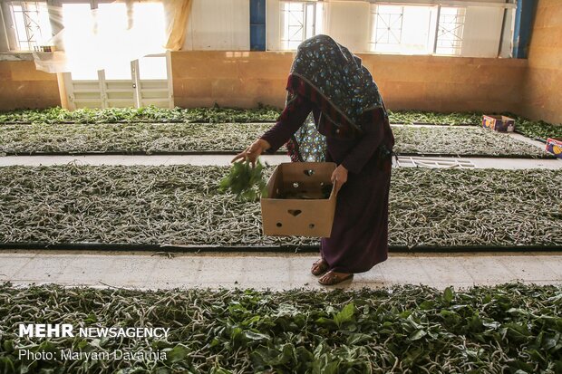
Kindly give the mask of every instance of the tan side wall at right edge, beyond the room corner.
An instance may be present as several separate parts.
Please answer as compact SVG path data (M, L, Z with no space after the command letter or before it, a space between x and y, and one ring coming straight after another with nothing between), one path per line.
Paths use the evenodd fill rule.
M562 1L538 0L521 110L533 120L562 123Z

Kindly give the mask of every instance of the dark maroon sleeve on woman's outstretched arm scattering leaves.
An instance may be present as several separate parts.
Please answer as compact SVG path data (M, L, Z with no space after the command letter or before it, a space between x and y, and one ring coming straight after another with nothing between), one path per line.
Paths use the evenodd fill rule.
M275 153L291 139L296 130L303 125L312 108L312 102L302 96L291 101L277 119L276 124L261 137L271 145L266 153Z

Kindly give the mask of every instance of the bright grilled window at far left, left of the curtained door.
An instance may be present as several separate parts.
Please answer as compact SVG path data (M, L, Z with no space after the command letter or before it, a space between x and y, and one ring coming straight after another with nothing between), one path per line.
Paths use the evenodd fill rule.
M33 51L34 47L46 44L53 36L46 3L14 1L8 3L8 9L11 50Z

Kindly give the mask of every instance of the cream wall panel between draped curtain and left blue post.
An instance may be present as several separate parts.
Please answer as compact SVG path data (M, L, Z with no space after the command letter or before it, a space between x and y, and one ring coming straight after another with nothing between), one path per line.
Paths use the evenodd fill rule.
M193 0L184 50L249 51L249 0Z

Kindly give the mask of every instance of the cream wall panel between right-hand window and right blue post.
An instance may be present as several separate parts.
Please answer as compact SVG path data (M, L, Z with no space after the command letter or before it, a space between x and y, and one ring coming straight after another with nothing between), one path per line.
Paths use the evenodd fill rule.
M465 57L498 57L502 19L502 8L469 6L460 54Z

